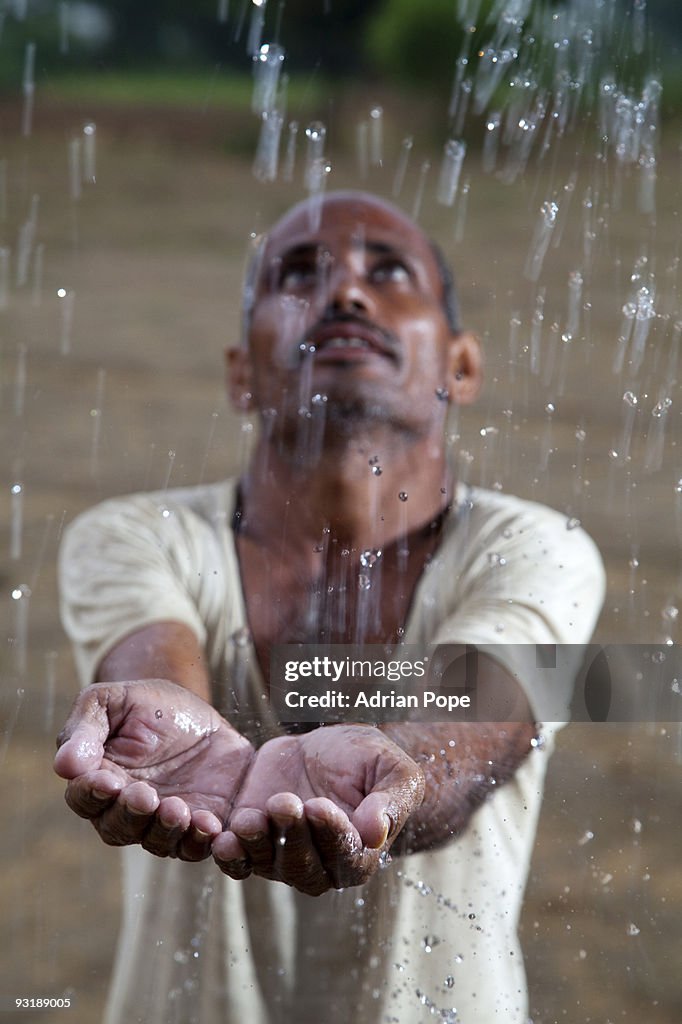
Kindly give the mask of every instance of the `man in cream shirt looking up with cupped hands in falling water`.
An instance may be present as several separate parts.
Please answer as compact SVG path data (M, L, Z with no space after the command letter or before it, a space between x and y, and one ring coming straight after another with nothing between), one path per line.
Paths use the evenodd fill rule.
M300 204L247 299L227 353L262 426L244 477L104 503L62 550L65 623L97 685L55 767L130 847L106 1021L520 1024L547 749L515 652L587 642L599 557L557 513L453 480L447 408L475 398L479 349L398 210ZM514 713L287 734L269 654L301 640L497 645L479 700Z

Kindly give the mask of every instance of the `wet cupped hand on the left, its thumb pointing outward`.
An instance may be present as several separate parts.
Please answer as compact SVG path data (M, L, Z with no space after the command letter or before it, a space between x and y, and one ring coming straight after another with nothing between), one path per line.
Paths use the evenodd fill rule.
M67 803L112 846L202 860L254 756L201 697L167 680L95 683L57 738Z

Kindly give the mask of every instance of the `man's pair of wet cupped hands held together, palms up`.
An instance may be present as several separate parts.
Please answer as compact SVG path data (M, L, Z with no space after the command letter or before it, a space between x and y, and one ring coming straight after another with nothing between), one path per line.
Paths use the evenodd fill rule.
M232 878L254 871L310 895L366 881L423 793L412 759L375 729L316 730L255 752L167 680L88 687L59 743L67 802L105 843L201 860L215 840Z

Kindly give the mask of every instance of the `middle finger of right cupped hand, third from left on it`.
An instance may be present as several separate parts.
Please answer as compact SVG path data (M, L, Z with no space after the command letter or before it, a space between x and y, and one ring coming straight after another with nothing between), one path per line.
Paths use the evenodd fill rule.
M281 882L308 896L319 896L332 888L315 849L303 803L291 793L270 797L265 805L276 833L274 869Z

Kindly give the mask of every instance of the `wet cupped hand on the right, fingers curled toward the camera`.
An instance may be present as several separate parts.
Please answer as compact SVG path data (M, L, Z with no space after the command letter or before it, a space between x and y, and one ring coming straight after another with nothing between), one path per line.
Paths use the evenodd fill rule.
M317 896L361 885L424 796L421 768L370 726L266 742L213 843L226 874L259 874Z

